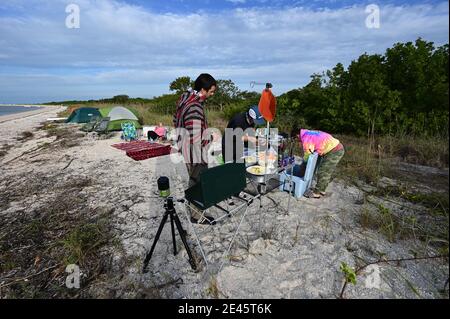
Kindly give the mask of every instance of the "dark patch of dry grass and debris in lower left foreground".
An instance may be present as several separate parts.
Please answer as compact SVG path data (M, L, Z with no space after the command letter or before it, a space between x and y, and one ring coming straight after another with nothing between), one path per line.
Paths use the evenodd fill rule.
M0 298L91 296L91 281L110 267L105 248L112 242L112 211L92 210L80 193L91 185L89 177L74 180L58 173L1 181L0 205L15 201L22 208L0 221ZM65 288L65 267L72 263L85 274L81 291Z

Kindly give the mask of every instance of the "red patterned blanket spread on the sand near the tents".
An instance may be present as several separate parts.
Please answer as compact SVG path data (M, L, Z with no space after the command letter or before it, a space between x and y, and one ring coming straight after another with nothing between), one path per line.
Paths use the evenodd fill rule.
M125 151L128 157L135 161L143 161L149 158L169 155L172 148L170 145L149 143L146 141L132 141L111 145L114 148Z

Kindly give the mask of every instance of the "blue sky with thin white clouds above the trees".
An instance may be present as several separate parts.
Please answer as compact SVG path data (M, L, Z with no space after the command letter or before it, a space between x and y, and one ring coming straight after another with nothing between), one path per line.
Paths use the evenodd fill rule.
M151 98L201 73L282 94L397 42L446 44L448 21L448 1L431 0L1 0L0 104Z

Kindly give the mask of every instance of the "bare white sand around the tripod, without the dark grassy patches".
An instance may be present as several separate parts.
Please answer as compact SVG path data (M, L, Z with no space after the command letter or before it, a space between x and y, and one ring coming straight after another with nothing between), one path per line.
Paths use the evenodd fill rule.
M141 272L143 258L150 249L164 209L157 197L156 179L169 176L173 195L181 198L186 188L187 172L179 156L159 157L136 162L123 151L111 145L120 142L119 135L107 140L80 138L81 144L61 148L57 153L45 150L15 157L54 138L45 132L34 132L34 138L25 143L15 138L20 132L37 127L40 121L55 117L59 109L27 117L9 119L0 123L0 146L13 144L8 154L0 158L1 175L23 176L24 173L53 176L60 179L89 177L95 183L80 189L88 195L89 207L114 209L111 223L121 243L111 252L114 276L105 285L114 289L115 297L145 295L147 289L160 288L167 298L335 298L339 295L343 274L342 262L356 263L355 255L373 261L377 252L388 257L410 256L410 249L420 243L390 243L375 231L359 226L358 204L362 192L355 187L333 182L330 197L314 200L302 198L291 201L286 211L287 194L274 192L263 199L263 209L255 202L249 209L231 261L216 274L219 258L231 239L232 231L242 214L226 219L224 223L203 229L201 241L211 262L210 273L204 269L194 272L187 262L187 254L177 235L181 252L174 256L170 224L165 226L150 262L149 273ZM23 114L22 114L23 115ZM174 163L178 161L178 163ZM66 169L64 169L70 164ZM64 169L64 170L63 170ZM56 178L56 177L55 177ZM57 181L55 181L57 182ZM6 187L6 185L3 185ZM1 188L0 188L1 189ZM1 195L0 195L1 196ZM30 194L30 198L12 203L1 214L15 214L19 208L36 205L52 194ZM192 229L185 219L184 207L177 204L184 228L188 230L189 244L199 256ZM438 286L448 278L448 265L439 262L408 263L401 267L380 265L381 281L378 286L368 284L369 273L358 276L356 286L350 285L346 296L351 298L417 298L402 277L413 283L424 298L438 298ZM210 277L212 275L213 277ZM164 285L181 278L182 284ZM370 279L370 278L369 278ZM218 295L212 291L217 286ZM99 296L102 293L99 292Z

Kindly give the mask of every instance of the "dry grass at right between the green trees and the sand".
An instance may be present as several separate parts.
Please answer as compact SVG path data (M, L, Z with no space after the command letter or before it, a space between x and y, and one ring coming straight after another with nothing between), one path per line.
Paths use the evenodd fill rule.
M375 187L365 196L359 215L361 226L378 231L391 242L420 240L448 254L448 175L433 176L426 169L425 173L414 168L407 173L399 169L405 162L448 168L448 140L382 137L370 141L337 137L346 148L337 175L355 185L362 180ZM397 185L381 186L381 177L390 177ZM370 197L378 200L370 201Z

